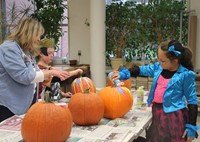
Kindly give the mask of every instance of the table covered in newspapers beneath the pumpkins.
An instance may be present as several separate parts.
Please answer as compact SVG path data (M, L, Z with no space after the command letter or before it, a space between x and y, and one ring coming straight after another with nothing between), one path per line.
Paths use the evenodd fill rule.
M146 98L147 96L144 100ZM134 104L136 104L136 101L137 98L134 95ZM132 109L123 118L114 120L103 118L98 125L87 127L74 125L67 142L76 142L77 140L79 142L93 142L96 140L132 142L150 125L151 118L151 108L141 108L133 105ZM7 127L5 128L2 127L2 124L6 121L0 123L0 142L22 141L20 127L23 116L14 116L10 119L15 122L12 124L13 126L8 126L7 123L4 125Z

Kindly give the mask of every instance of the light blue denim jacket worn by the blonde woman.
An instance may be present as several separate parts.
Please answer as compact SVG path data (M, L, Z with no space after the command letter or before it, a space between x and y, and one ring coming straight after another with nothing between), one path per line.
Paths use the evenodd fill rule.
M14 114L25 113L34 96L34 84L31 83L37 68L23 56L22 49L14 41L5 41L0 45L0 105L9 108Z

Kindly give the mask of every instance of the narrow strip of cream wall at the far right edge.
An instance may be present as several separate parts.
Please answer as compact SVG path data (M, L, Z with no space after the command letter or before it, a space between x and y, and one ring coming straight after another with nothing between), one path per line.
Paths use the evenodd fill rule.
M195 68L200 70L200 3L199 0L189 0L190 10L195 10L195 15L197 16L197 39L196 39L196 65Z

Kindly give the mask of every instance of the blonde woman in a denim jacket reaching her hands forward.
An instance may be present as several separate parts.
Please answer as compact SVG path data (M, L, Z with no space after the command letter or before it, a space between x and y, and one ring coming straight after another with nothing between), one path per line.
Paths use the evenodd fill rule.
M64 71L41 71L36 62L40 37L44 28L40 22L25 18L0 45L0 122L26 113L37 101L38 82L50 76L64 80Z

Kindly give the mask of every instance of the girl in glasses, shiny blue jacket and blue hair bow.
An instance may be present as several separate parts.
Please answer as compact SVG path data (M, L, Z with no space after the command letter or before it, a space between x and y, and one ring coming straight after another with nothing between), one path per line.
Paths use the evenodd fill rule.
M148 142L186 142L197 137L198 99L192 52L172 40L158 47L158 62L129 69L131 76L153 77L148 97L152 123Z

